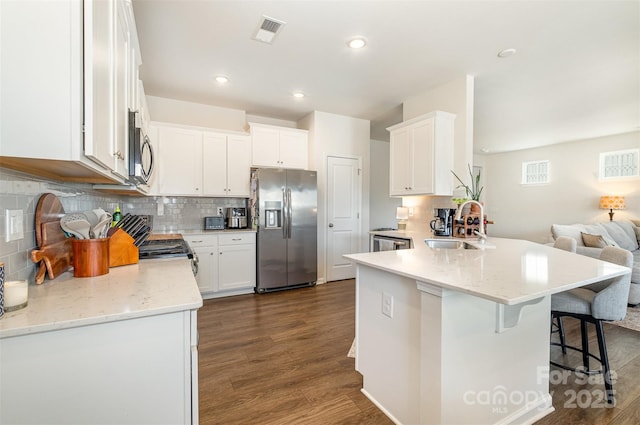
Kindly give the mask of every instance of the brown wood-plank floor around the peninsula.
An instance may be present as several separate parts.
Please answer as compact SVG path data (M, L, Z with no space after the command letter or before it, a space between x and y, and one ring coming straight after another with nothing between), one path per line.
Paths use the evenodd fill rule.
M353 280L205 301L200 423L390 424L360 392L362 377L347 357L354 315ZM576 323L566 319L565 326L577 344ZM552 372L556 411L539 424L640 423L640 333L605 326L617 405L598 407L602 385Z

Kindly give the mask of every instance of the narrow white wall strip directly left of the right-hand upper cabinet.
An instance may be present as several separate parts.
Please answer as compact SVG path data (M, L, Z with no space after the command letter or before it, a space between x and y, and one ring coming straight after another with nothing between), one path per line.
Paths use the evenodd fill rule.
M396 208L401 198L389 196L389 142L371 139L369 228L397 227Z

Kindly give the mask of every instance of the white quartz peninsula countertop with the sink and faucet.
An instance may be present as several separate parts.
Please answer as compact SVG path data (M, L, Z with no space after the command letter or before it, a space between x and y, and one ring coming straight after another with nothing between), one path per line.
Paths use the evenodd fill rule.
M490 237L484 247L477 245L481 249L433 249L423 242L433 239L427 232L374 233L411 238L415 248L345 257L357 264L507 305L631 272L626 267L523 240Z

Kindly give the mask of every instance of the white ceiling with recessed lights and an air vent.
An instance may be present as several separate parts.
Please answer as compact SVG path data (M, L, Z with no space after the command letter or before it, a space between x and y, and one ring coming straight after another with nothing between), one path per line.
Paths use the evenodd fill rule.
M478 153L640 129L635 0L133 5L148 95L289 121L314 110L349 115L371 120L372 138L385 140L405 99L472 75ZM272 44L252 39L262 15L286 22ZM347 47L356 35L363 49ZM517 53L498 58L507 48Z

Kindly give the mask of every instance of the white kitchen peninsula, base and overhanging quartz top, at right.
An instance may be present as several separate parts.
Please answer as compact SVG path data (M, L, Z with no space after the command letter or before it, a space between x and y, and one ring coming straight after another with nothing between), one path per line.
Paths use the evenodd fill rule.
M521 240L444 249L418 235L415 249L346 256L357 264L363 393L398 424L551 413L550 295L630 270Z

